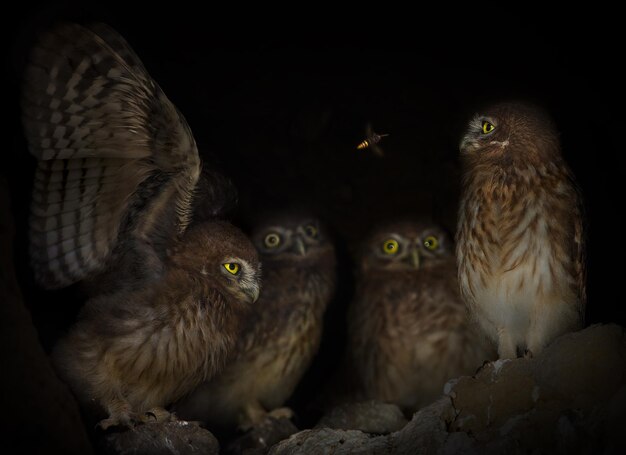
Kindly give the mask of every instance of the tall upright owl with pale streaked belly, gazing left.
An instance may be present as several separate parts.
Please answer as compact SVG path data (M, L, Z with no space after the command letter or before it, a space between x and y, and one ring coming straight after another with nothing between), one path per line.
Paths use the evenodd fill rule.
M464 167L456 256L461 293L500 358L537 354L582 327L582 199L546 113L502 103L476 115Z

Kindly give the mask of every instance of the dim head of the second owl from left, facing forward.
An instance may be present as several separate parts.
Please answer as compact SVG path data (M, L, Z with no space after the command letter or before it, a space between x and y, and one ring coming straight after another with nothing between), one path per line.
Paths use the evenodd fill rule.
M264 263L319 259L332 251L328 232L319 219L308 214L281 213L257 223L252 241Z

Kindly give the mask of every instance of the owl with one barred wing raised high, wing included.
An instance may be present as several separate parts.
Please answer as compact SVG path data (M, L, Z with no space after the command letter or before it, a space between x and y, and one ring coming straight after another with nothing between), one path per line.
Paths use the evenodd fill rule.
M259 294L254 246L215 219L232 184L201 172L185 119L104 25L40 38L22 117L35 278L92 297L54 349L59 375L104 428L157 415L223 366Z

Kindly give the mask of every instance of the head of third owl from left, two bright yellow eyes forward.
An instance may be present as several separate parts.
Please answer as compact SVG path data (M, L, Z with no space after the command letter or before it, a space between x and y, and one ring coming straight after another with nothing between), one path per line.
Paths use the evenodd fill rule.
M375 229L360 251L361 271L418 271L453 258L451 237L441 227L398 221Z

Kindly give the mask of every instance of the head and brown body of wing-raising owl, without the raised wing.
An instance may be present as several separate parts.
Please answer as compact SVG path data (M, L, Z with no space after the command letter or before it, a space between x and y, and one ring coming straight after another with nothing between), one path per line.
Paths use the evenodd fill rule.
M224 269L238 262L237 276ZM220 371L259 291L259 263L227 223L191 228L155 283L89 300L56 346L55 366L83 403L129 424Z

